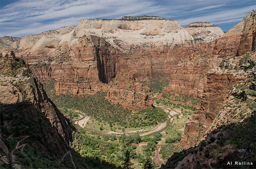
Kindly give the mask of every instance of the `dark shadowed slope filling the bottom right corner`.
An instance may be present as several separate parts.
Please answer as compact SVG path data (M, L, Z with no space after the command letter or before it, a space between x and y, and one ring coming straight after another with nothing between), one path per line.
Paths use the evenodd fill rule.
M255 115L249 114L241 123L214 129L195 147L175 153L161 168L255 168L256 135L250 130L255 128Z

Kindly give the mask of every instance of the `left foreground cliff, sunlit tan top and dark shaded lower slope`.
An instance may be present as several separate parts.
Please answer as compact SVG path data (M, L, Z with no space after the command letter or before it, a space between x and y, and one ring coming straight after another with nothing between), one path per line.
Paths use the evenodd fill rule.
M73 141L73 122L48 98L25 62L20 58L0 58L0 84L1 160L12 167L21 167L16 163L20 155L14 153L21 146L21 152L34 149L35 154L30 154L34 158L39 154L44 154L44 158L48 155L62 158ZM19 140L15 149L8 140ZM26 143L18 146L23 140Z

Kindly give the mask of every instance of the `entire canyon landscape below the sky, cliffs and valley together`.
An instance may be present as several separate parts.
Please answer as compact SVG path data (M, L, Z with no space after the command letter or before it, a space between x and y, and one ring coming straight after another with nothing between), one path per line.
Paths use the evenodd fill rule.
M1 167L255 168L255 30L251 11L225 33L143 16L1 37Z

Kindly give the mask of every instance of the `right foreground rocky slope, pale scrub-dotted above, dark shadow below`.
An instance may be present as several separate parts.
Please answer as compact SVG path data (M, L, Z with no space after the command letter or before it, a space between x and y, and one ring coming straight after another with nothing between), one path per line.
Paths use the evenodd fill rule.
M238 60L240 59L240 60ZM183 135L182 143L194 142L194 147L186 149L183 152L174 154L167 161L162 168L191 168L195 169L199 166L204 168L255 168L255 147L256 147L256 84L255 84L255 66L252 69L247 69L246 66L255 65L256 53L250 52L235 59L225 60L227 63L239 62L241 67L223 70L221 74L226 74L228 77L226 82L233 79L239 80L236 85L232 87L229 94L226 95L227 89L219 88L220 91L215 91L217 99L207 102L208 106L204 108L209 109L208 114L202 114L202 111L197 111L200 116L193 116L192 120L187 123L186 135ZM210 73L217 76L218 68L213 69ZM220 74L220 70L218 70ZM254 74L254 75L253 75ZM241 80L242 79L242 80ZM229 86L220 83L220 86ZM207 92L215 90L217 87L207 88ZM224 93L223 93L224 92ZM224 104L223 104L224 103ZM217 109L211 109L211 105L217 105ZM202 103L206 105L206 103ZM201 105L201 109L202 109ZM222 105L222 107L221 107ZM221 107L221 109L219 109ZM219 110L219 111L217 111ZM207 112L207 111L206 111ZM197 118L195 118L197 117ZM208 117L208 121L205 117ZM212 117L215 117L212 120ZM204 123L207 122L207 123ZM211 123L212 122L212 123ZM198 125L199 124L199 125ZM190 128L190 129L189 129ZM189 129L189 130L188 130ZM193 140L193 135L197 135L197 139ZM186 140L185 139L189 139ZM237 161L240 164L228 163L230 161Z

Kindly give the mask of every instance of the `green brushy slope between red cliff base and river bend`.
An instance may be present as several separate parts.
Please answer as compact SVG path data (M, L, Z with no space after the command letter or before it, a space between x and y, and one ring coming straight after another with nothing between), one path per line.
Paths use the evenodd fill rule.
M165 112L158 108L137 110L124 109L121 105L113 105L105 99L106 92L97 92L95 95L72 96L55 95L54 80L44 86L49 98L58 108L76 109L99 121L105 121L113 126L115 123L127 127L145 127L157 125L167 120ZM66 110L67 110L66 109ZM113 125L112 125L113 124Z

